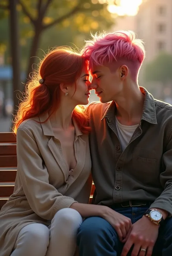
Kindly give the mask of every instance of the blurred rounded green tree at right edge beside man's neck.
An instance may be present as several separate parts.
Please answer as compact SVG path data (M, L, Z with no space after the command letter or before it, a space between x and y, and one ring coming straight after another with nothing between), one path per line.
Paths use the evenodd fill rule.
M145 67L146 81L161 81L166 83L172 81L172 55L160 53L155 60Z

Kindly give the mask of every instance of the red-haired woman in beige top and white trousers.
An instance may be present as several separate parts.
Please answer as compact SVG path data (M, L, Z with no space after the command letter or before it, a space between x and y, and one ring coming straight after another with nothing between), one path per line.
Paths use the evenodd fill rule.
M77 106L89 103L88 85L87 62L67 48L50 52L29 82L14 124L18 167L0 211L1 256L74 254L82 217L70 207L89 202L92 183L90 129Z

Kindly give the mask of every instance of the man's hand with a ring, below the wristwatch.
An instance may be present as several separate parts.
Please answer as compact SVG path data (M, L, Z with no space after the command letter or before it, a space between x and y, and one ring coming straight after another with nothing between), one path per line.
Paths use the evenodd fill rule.
M131 256L151 256L153 246L158 237L159 225L152 223L146 216L134 223L128 232L128 235L123 240L125 243L121 256L127 256L132 245ZM146 249L146 251L140 251Z

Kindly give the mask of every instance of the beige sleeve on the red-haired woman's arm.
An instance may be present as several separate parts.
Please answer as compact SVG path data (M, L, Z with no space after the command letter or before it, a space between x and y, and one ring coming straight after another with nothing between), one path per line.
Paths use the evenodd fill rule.
M36 141L20 127L17 130L17 173L30 207L41 218L52 220L58 210L76 202L49 184L49 174Z

